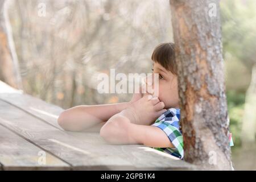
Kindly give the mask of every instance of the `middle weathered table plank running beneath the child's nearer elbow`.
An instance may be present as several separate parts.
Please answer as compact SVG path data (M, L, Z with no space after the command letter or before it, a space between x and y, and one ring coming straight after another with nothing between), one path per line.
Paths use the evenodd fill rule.
M0 123L72 164L74 169L189 169L192 166L143 145L106 144L98 133L74 133L52 127L0 101ZM56 122L56 121L55 121Z

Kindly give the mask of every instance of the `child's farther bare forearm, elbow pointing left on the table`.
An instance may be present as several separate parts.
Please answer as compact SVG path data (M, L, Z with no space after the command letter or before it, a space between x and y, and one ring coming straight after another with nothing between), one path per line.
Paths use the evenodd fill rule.
M113 115L126 109L129 102L105 105L81 105L63 111L58 123L68 131L100 131Z

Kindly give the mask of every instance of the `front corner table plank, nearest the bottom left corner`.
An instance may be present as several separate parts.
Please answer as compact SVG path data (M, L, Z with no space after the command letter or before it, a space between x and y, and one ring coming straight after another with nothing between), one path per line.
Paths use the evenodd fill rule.
M56 158L0 125L0 163L3 170L68 170L69 164ZM46 156L46 163L44 163Z

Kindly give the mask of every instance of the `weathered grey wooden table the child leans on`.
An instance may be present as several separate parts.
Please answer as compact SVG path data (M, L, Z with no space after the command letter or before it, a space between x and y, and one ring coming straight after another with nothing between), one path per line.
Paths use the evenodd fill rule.
M58 106L0 81L0 170L173 170L192 165L140 144L61 129Z

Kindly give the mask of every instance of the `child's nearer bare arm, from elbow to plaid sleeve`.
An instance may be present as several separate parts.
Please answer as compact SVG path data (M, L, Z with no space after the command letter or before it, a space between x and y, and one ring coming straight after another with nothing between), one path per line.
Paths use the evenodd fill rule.
M101 128L100 135L112 144L144 144L148 147L174 147L158 127L136 125L122 115L115 115Z

